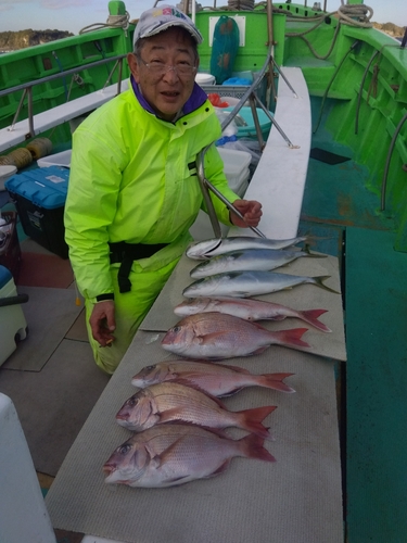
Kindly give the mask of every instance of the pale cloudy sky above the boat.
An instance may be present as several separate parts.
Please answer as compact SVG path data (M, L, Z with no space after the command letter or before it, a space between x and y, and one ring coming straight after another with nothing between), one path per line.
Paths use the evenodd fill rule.
M177 3L167 0L163 3ZM202 5L213 5L200 1ZM224 0L225 5L227 0ZM320 2L323 5L323 0ZM407 26L407 0L366 0L372 8L372 22L394 23ZM142 11L152 8L154 0L127 0L126 9L131 18L138 18ZM307 5L311 7L313 0ZM340 0L328 0L328 11L335 11ZM106 23L109 0L0 0L0 31L8 30L67 30L78 34L81 28L96 23ZM222 0L217 0L222 5Z

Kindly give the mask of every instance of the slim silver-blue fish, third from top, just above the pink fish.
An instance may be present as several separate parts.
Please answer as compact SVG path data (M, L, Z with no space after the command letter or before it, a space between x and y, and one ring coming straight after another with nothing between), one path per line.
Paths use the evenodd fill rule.
M297 285L311 283L329 292L339 294L335 290L323 285L330 276L306 277L277 272L228 272L198 279L183 289L186 298L196 296L232 296L249 298L268 294L283 289L291 289Z

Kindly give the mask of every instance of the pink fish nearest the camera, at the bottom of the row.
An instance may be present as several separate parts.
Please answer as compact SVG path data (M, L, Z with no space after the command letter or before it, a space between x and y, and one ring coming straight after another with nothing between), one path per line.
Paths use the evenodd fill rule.
M236 456L276 462L263 439L232 440L198 426L162 425L132 435L103 465L106 483L166 488L224 472Z

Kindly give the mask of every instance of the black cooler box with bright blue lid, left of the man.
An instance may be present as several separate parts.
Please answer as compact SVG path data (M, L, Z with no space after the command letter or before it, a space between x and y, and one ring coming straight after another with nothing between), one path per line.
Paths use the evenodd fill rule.
M24 232L52 253L68 257L64 207L69 169L61 166L29 169L5 181Z

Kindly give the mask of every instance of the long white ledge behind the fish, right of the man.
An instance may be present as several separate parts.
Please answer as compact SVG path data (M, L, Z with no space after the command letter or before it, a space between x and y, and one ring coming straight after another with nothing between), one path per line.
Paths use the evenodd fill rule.
M281 71L297 98L280 76L275 119L294 148L291 149L272 126L244 195L247 200L262 202L258 229L270 239L297 236L311 141L310 102L304 75L297 67ZM247 235L251 235L247 229L232 227L229 230L229 236Z

